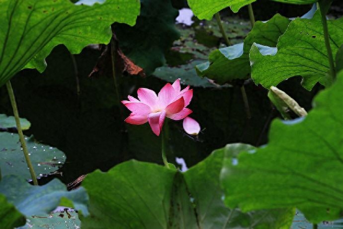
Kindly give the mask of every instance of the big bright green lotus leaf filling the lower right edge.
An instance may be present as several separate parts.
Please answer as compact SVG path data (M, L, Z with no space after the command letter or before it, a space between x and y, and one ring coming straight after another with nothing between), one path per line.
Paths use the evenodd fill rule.
M297 207L311 222L343 212L343 72L292 121L274 120L267 146L224 162L225 202L243 211Z

